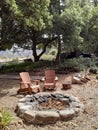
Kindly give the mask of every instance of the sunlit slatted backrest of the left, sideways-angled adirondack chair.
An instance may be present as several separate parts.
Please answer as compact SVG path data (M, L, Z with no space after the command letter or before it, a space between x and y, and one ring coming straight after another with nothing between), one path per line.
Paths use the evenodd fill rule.
M20 77L22 79L22 82L31 84L31 79L30 79L30 75L28 72L21 72ZM25 86L28 87L27 84L25 84Z

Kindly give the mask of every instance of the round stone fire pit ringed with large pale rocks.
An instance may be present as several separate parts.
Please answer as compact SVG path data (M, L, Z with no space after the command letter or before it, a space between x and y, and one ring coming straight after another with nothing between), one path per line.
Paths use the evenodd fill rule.
M77 97L61 93L27 95L19 100L16 113L28 123L49 124L69 120L83 112Z

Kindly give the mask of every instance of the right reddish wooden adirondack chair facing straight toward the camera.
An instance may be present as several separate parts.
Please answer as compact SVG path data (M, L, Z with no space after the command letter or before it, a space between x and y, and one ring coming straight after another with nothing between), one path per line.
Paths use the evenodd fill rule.
M58 77L55 76L55 70L45 70L45 77L42 78L42 81L44 83L43 90L54 90L58 81Z

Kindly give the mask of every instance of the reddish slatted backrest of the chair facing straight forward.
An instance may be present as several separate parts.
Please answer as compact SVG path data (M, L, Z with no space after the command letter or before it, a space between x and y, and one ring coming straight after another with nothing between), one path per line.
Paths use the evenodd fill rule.
M55 70L45 70L46 83L54 83L55 81Z

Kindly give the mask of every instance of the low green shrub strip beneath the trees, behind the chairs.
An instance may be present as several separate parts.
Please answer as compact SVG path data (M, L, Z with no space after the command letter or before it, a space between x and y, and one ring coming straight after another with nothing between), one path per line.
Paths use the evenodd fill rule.
M98 68L98 58L73 58L73 59L66 59L63 63L55 64L54 60L52 59L52 55L46 55L43 57L43 60L38 62L24 62L24 63L10 63L5 64L0 69L0 73L7 73L7 72L21 72L21 71L36 71L36 70L43 70L45 68L54 68L57 70L64 70L64 72L69 71L88 71L89 69L97 69ZM50 60L51 59L51 60ZM98 70L98 69L97 69Z

